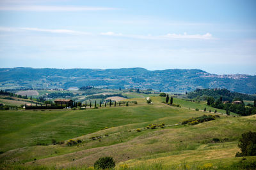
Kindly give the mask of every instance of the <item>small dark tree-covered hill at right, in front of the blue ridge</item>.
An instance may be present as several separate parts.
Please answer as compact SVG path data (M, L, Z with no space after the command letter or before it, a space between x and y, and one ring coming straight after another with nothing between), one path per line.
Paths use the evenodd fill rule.
M208 96L214 97L215 99L223 98L223 101L232 101L234 99L253 101L256 96L241 94L238 92L230 92L227 89L196 89L194 92L188 93L188 98L195 99L200 97L206 99Z

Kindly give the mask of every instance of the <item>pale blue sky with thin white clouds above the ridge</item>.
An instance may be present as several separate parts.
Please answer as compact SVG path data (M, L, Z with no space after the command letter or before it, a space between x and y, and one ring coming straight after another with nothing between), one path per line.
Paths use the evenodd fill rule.
M256 75L256 1L0 0L0 67Z

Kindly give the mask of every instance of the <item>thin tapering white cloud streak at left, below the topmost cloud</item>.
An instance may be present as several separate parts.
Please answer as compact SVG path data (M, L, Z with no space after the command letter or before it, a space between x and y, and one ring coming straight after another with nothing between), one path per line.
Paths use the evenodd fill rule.
M62 33L62 34L85 34L88 35L88 32L81 32L81 31L73 31L69 29L38 29L38 28L20 28L26 31L40 31L40 32L52 32L52 33Z

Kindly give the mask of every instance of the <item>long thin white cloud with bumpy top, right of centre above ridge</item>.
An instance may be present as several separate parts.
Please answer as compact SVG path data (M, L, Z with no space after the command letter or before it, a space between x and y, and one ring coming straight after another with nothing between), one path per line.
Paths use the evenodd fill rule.
M152 36L152 35L125 35L115 32L101 32L100 35L103 36L122 36L127 38L138 38L138 39L214 39L212 37L212 34L206 33L206 34L187 34L184 32L184 34L166 34L164 36Z

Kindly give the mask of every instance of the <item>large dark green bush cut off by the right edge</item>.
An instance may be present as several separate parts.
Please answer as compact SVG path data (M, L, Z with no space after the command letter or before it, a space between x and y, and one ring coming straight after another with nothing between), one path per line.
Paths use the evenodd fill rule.
M255 156L256 155L256 132L245 132L239 139L238 147L241 153L237 152L236 157Z

